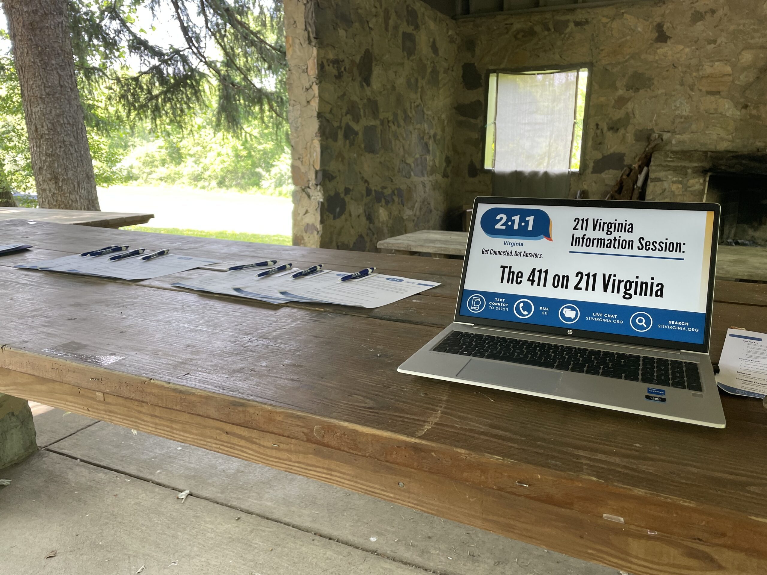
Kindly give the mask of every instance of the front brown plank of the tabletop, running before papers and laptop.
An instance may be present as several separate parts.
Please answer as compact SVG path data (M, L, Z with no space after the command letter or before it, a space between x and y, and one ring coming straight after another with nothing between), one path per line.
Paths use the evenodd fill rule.
M714 481L717 491L727 494L727 505L740 501L741 508L749 508L751 514L767 517L767 503L759 499L756 504L746 488L754 485L751 481L767 486L767 461L739 461L740 453L765 448L752 431L739 430L736 421L718 432L512 393L487 389L479 393L469 386L397 374L397 366L436 334L439 328L435 327L268 305L233 311L225 300L201 301L196 294L147 290L97 278L30 272L5 281L7 271L0 274L11 288L8 304L15 310L5 324L4 341L9 345L0 360L14 370L46 379L71 377L67 383L102 393L125 393L148 403L160 399L134 395L142 393L144 386L125 386L123 378L127 374L153 378L183 386L189 393L220 393L230 400L296 409L676 498L693 494L705 498L712 488L707 481ZM94 285L97 290L91 289ZM28 297L32 286L35 298ZM35 334L33 340L30 334ZM112 365L122 375L92 380L88 370L60 367L37 357L70 341L84 344L84 353L91 355L125 356ZM35 357L8 360L11 350ZM364 387L344 373L366 373ZM186 395L180 403L173 399L167 406L190 409L192 399ZM739 412L729 408L749 402L733 399L736 402L726 403L726 415L737 420ZM219 409L218 417L226 411ZM759 426L764 429L767 412L761 415ZM713 438L724 442L719 443L722 452L713 450ZM552 448L551 441L558 445ZM666 445L651 475L634 467L637 460L648 457L648 445ZM611 455L606 465L602 458L618 447L624 454L622 463ZM718 463L709 469L698 458ZM737 468L726 483L717 479L723 467ZM675 470L683 468L708 470L706 481L701 485L688 481L686 474L676 477ZM757 479L760 474L762 479Z

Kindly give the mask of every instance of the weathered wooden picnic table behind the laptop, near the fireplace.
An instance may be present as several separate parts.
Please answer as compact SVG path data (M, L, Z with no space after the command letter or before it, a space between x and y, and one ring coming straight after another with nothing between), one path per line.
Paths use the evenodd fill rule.
M433 258L466 255L468 232L425 229L378 242L378 248L397 255L431 254ZM767 281L767 248L720 245L716 277L729 280Z

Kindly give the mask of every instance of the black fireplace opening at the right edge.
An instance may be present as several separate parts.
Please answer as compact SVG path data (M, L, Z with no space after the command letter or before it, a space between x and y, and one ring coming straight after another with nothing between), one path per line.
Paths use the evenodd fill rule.
M720 244L767 246L767 176L709 174L706 202L722 206Z

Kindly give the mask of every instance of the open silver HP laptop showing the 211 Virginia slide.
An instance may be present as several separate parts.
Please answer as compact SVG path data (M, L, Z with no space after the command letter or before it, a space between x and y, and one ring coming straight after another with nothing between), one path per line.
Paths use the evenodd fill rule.
M398 371L725 426L719 205L477 198L456 317Z

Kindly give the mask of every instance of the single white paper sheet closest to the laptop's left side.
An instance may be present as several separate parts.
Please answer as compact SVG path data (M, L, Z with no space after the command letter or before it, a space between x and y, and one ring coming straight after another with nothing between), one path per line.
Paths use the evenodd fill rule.
M374 274L367 278L339 283L338 278L346 274L347 272L343 271L329 271L328 274L317 278L293 281L290 286L281 288L280 293L285 297L302 297L329 304L373 308L393 304L439 285L433 281L386 274Z

